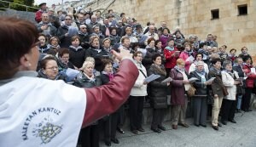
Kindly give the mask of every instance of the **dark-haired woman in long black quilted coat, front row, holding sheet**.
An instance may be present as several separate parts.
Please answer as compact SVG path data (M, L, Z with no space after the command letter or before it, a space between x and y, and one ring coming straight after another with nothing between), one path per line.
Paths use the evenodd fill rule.
M166 79L166 70L162 65L161 55L154 54L152 57L154 64L148 69L148 76L160 75L156 80L149 82L151 87L148 93L150 97L150 105L153 108L153 118L151 122L151 130L155 133L166 131L166 127L163 127L164 114L167 108L167 88L170 82L162 82Z

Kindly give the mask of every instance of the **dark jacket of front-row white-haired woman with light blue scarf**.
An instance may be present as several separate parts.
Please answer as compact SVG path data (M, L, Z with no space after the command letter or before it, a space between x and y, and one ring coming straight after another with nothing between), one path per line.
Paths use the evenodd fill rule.
M193 82L193 86L195 87L195 95L207 95L207 86L201 82L201 76L199 76L195 71L192 71L189 75L189 77L195 77L198 80ZM205 74L206 81L209 79L207 73Z

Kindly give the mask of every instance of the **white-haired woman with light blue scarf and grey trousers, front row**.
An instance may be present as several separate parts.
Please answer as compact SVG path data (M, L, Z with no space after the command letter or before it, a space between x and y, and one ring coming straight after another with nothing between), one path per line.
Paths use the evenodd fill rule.
M194 104L194 124L196 127L207 127L207 85L211 85L212 82L207 82L209 78L204 70L204 65L203 61L195 62L195 71L192 71L189 75L198 79L193 82L196 91L192 99Z

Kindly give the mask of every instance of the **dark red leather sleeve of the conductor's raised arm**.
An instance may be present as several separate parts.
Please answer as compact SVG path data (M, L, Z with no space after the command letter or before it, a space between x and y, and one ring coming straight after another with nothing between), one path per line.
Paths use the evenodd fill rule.
M128 99L137 80L137 66L124 59L113 81L96 88L84 88L87 98L83 127L117 110Z

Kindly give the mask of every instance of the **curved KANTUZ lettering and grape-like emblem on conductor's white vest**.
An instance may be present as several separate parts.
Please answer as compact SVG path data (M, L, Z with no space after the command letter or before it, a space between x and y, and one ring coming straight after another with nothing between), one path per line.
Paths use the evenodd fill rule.
M29 137L34 136L41 139L41 144L47 144L56 135L61 133L62 125L54 123L55 116L59 116L61 110L57 110L52 107L39 108L38 110L32 111L32 113L26 117L26 121L22 127L22 139L27 140ZM40 119L42 118L43 119ZM39 117L39 119L34 119Z

